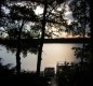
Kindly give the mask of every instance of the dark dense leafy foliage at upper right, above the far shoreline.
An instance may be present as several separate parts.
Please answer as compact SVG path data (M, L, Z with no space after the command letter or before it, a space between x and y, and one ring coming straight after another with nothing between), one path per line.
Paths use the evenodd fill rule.
M72 0L69 3L72 11L74 22L70 28L74 34L85 37L90 34L90 1L89 0Z

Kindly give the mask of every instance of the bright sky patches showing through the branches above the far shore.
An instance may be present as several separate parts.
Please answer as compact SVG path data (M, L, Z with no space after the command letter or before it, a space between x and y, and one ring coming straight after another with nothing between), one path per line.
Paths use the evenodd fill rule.
M68 1L68 3L67 4L69 4L70 2L71 2L72 0L69 0ZM18 5L22 5L23 3L17 3ZM72 12L70 11L70 9L69 9L69 6L66 4L66 13L65 13L65 19L67 19L68 20L68 25L70 25L70 23L71 22L74 22L74 17L72 17ZM24 3L24 5L26 5L25 3ZM63 5L62 5L63 6ZM61 11L62 10L62 6L59 6L57 10L58 11ZM3 10L3 12L5 13L5 14L9 14L10 13L10 10L8 9L8 8L5 8L5 6L2 6L2 10ZM42 14L43 13L43 8L41 8L40 5L38 5L37 8L36 8L36 10L34 10L35 11L35 13L37 14L37 15L40 15L40 14ZM64 27L63 27L64 28ZM62 28L62 29L63 29ZM88 27L89 28L89 27ZM90 30L89 29L85 29L85 31L87 31L87 33L88 32L90 32ZM0 28L0 29L2 29L2 28ZM30 29L30 26L29 26L29 24L27 25L27 30L29 30ZM52 28L51 29L51 31L54 31L56 28ZM56 29L57 30L57 29ZM58 37L56 37L56 35L54 35L54 34L56 34L56 35L58 35ZM4 33L3 34L4 37L6 35L6 33ZM65 30L64 31L62 31L61 33L59 32L53 32L53 34L52 34L52 38L54 39L54 38L78 38L78 37L80 37L80 35L75 35L75 37L72 37L72 34L68 34L67 32L65 32ZM85 37L88 37L88 35L85 35Z

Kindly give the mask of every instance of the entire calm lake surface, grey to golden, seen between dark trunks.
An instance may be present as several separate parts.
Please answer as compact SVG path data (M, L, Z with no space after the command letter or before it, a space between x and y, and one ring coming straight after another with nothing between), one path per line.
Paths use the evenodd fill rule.
M72 47L82 46L82 44L44 44L43 54L41 61L41 71L45 67L55 67L58 61L75 61L78 62L79 59L76 59L74 55ZM4 46L0 45L0 58L3 58L3 64L13 63L13 67L16 64L15 53L8 52ZM36 71L37 68L37 55L27 54L27 57L21 55L22 69Z

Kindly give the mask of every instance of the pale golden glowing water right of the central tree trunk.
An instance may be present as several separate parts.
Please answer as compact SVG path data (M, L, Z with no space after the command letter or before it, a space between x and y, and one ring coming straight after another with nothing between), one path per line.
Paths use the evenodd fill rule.
M56 67L58 61L78 62L71 47L81 44L44 44L42 54L42 69L44 67Z

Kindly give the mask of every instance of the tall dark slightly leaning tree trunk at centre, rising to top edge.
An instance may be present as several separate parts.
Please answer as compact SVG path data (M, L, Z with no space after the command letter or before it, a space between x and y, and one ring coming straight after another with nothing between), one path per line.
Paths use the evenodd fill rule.
M37 76L40 76L40 68L41 68L41 56L42 56L42 47L43 47L43 40L44 40L44 30L45 30L45 14L46 14L48 3L46 0L44 1L44 11L43 11L43 19L42 19L42 34L39 44L39 52L38 52L38 61L37 61Z

